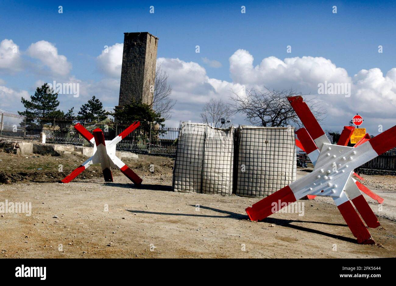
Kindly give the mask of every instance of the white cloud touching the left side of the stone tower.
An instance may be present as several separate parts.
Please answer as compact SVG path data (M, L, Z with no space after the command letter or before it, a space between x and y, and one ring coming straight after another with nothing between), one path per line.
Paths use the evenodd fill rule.
M107 76L121 77L122 52L124 44L116 43L102 51L97 57L98 68Z

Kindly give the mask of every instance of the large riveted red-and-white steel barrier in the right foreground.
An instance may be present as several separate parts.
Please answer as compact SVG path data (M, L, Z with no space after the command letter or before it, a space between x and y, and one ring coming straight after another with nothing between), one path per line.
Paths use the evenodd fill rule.
M351 201L368 227L378 227L378 219L360 193L361 184L351 176L355 168L396 146L396 126L357 147L344 146L345 138L342 140L343 143L340 142L341 145L334 145L327 139L303 98L297 96L288 99L306 128L297 131L297 136L307 154L314 156L320 150L317 159L312 158L315 161L314 170L248 207L247 215L251 220L258 221L273 213L273 203L280 204L277 209L279 210L308 195L331 196L358 243L375 243ZM343 137L347 138L349 132L350 129L346 128Z

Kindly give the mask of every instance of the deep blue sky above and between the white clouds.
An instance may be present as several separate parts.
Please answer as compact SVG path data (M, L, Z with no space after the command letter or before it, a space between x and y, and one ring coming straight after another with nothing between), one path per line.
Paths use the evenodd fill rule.
M62 14L58 13L59 5L63 6ZM242 5L246 6L246 13L241 13ZM154 6L154 13L149 13L150 6ZM337 6L337 13L332 13L333 6ZM47 41L72 65L69 76L91 83L106 77L97 65L103 47L123 43L123 33L135 31L158 36L158 58L197 63L208 78L231 83L238 76L231 75L229 59L239 49L254 57L253 66L270 56L280 60L310 56L329 59L337 68L345 69L349 77L373 68L385 76L396 66L395 6L394 2L362 1L2 1L0 41L11 39L22 53L32 43ZM196 45L200 46L200 53L195 52ZM288 45L291 53L286 53ZM379 45L383 46L383 53L378 53ZM22 58L27 60L26 53ZM211 67L203 58L218 61L221 67ZM56 79L46 72L45 66L37 72L34 65L40 64L40 59L27 61L29 64L22 71L0 70L4 86L32 94L37 81ZM266 82L268 85L271 82ZM279 83L274 84L278 86ZM284 84L285 88L299 86L298 82L294 86L290 82ZM117 105L116 89L113 97L103 100L107 107ZM82 95L80 100L83 99L88 100ZM189 103L178 102L180 110L188 109ZM73 104L69 101L61 107L66 109ZM79 109L80 101L74 105ZM16 111L21 106L15 103L4 109ZM367 113L362 108L364 111ZM345 122L348 115L342 116ZM378 117L373 116L381 123ZM388 126L390 118L385 117L384 125ZM373 119L373 126L377 121L374 124ZM329 128L339 126L338 121L326 124Z

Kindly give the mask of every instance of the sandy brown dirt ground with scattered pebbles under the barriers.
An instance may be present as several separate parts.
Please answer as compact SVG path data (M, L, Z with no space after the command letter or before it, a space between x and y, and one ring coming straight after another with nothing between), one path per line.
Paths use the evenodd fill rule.
M0 153L0 160L8 178L0 202L32 204L30 216L0 217L0 257L396 257L395 177L363 175L385 202L380 211L366 196L381 226L369 229L377 245L360 245L331 198L299 201L303 216L276 213L252 222L245 208L259 198L172 192L171 158L128 160L143 178L141 187L119 172L114 183L104 183L99 167L58 183L85 160L79 156Z

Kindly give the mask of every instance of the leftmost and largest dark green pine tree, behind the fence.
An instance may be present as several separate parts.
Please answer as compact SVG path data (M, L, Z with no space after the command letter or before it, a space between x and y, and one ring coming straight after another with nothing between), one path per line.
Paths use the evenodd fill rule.
M65 116L63 111L57 110L59 106L58 94L54 93L53 89L46 83L41 88L37 88L34 95L30 95L30 101L22 97L21 102L26 110L18 111L18 113L27 118Z

